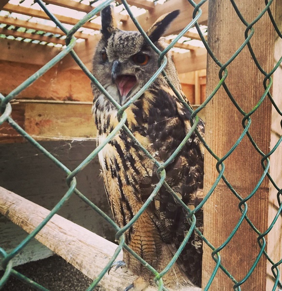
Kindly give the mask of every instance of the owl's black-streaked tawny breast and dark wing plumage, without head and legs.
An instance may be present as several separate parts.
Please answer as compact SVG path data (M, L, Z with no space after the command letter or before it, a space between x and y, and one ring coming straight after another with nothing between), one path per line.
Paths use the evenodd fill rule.
M93 112L101 143L118 123L116 110L100 95L94 99ZM166 86L153 84L134 101L126 113L126 126L158 162L165 162L191 129L191 113ZM204 125L201 120L197 129L203 135ZM199 137L193 132L175 159L166 167L166 182L190 209L194 209L202 200L202 148ZM99 159L114 218L122 227L133 218L152 193L159 181L157 168L122 129L100 151ZM151 224L148 231L152 232L153 229L155 232L150 234L151 240L156 244L154 256L158 256L160 243L165 242L176 250L190 227L185 219L187 213L164 186L144 215L149 217ZM138 220L144 220L144 215ZM197 227L202 231L202 210L195 215ZM136 231L140 232L138 220L126 232L127 243L131 242ZM144 223L142 227L145 227ZM144 250L142 252L144 253ZM181 264L183 263L182 268L197 285L200 284L201 277L201 256L202 242L198 234L193 232L180 259ZM149 263L153 261L149 260Z

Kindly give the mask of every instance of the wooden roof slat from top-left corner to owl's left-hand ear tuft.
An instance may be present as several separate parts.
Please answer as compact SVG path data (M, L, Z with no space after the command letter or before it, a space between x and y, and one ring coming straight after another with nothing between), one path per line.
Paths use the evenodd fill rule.
M3 10L8 11L8 12L15 12L15 13L19 13L19 14L24 14L24 15L28 15L28 16L32 16L32 17L38 17L38 18L42 18L42 19L50 19L49 16L41 10L37 10L37 9L32 9L32 8L26 8L20 5L13 5L13 4L6 4L5 7L3 8ZM68 16L61 16L61 15L57 15L54 14L54 16L56 16L58 18L59 21L61 21L62 23L66 23L66 24L71 24L71 25L75 25L80 19L75 19L72 17L68 17ZM83 27L85 28L89 28L89 29L93 29L93 30L100 30L101 26L99 24L96 23L92 23L92 22L86 22Z

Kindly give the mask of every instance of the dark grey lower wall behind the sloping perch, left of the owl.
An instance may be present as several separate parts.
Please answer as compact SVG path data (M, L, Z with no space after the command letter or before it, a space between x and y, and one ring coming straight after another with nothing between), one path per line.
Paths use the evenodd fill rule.
M76 168L96 147L95 141L44 141L40 142L69 169ZM62 198L68 187L66 175L45 155L29 143L0 145L0 185L49 210ZM77 188L92 202L111 216L98 159L94 159L77 176ZM100 215L83 203L74 194L58 212L98 235L114 241L111 226ZM19 226L0 215L0 246L9 252L15 248L27 233ZM14 265L44 259L52 252L36 240L14 260Z

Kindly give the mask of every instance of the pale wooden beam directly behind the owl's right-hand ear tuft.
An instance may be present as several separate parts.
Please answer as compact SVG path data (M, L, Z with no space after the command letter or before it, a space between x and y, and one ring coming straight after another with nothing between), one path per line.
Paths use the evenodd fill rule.
M196 1L197 3L199 0ZM191 21L193 16L194 7L187 0L169 0L164 4L158 4L151 12L146 12L140 16L137 16L137 21L141 24L143 29L147 31L150 26L165 13L171 12L173 10L179 9L180 15L177 17L175 21L171 23L169 28L166 31L166 35L179 33L185 28ZM199 18L199 24L207 24L208 19L208 4L207 2L201 6L202 15ZM133 21L129 19L126 23L123 23L120 26L120 29L127 31L135 31L137 30Z

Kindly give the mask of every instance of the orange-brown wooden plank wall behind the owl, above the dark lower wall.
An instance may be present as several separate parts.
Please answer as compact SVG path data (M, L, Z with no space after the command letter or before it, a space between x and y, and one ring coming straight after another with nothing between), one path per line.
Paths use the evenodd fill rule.
M9 94L39 68L0 61L0 92ZM179 75L191 104L199 105L205 99L205 72ZM12 117L35 139L94 138L92 99L90 80L82 71L59 71L55 66L17 96ZM4 123L0 126L0 143L11 142L23 142L23 138Z

